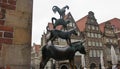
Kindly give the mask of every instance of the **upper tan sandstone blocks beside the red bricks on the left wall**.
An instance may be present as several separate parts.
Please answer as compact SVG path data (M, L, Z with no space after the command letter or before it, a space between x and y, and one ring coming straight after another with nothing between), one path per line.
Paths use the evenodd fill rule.
M5 25L14 27L13 44L31 42L31 35L29 35L31 34L31 18L32 0L17 0L16 9L6 11ZM19 38L20 36L21 38Z

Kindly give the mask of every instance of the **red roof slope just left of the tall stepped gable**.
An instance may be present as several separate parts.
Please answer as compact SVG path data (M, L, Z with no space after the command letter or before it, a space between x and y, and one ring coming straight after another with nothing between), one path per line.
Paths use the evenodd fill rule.
M78 21L76 21L76 26L77 26L77 28L78 28L79 31L84 31L85 24L87 22L87 17L88 17L88 15L86 15L83 18L81 18Z

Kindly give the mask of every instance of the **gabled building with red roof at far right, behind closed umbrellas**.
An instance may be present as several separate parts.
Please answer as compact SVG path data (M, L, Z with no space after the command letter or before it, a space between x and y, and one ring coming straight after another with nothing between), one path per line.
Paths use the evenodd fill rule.
M118 26L117 26L118 25ZM105 57L106 57L106 64L112 64L111 61L111 47L113 46L117 58L118 63L120 62L120 45L119 45L119 32L118 29L120 25L120 19L114 18L103 22L100 24L101 31L103 33L103 44L105 46Z

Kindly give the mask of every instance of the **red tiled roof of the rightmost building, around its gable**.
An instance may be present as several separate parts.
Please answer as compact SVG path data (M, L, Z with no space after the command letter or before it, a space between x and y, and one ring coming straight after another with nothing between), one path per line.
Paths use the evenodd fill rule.
M108 20L111 25L113 25L116 29L120 29L120 19L118 18L113 18L113 19L110 19ZM100 30L101 32L104 32L104 26L105 26L105 23L108 22L108 21L105 21L103 23L100 23L99 24L99 27L100 27Z

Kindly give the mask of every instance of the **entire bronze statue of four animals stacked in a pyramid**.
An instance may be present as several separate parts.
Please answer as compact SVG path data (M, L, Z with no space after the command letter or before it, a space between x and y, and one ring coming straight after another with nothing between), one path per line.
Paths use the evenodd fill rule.
M39 69L44 69L45 65L47 64L50 58L53 58L57 61L69 60L71 69L75 69L75 52L79 51L82 54L86 54L85 48L83 46L84 40L71 43L71 34L77 35L75 29L67 32L56 29L58 25L62 25L64 29L67 29L67 24L69 24L70 21L64 20L66 9L69 9L69 7L65 6L62 9L60 9L57 6L53 6L52 8L54 13L59 13L60 18L57 19L55 17L52 17L53 30L49 30L48 27L46 28L47 31L50 32L50 36L46 41L46 45L42 47L42 59L40 62ZM54 45L53 41L58 37L65 39L67 41L68 46L61 48L59 46ZM51 41L51 44L48 44L49 41Z

